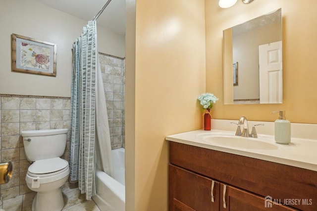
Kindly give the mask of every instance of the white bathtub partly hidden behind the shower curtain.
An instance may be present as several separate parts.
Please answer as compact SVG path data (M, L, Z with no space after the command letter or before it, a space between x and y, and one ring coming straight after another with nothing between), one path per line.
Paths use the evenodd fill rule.
M97 194L92 198L101 211L125 211L124 148L111 153L113 178L97 170Z

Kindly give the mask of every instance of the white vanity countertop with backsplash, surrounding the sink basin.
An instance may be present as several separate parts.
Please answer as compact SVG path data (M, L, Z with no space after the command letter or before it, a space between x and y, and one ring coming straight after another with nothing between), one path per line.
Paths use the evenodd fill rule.
M244 139L250 139L250 141L267 142L271 145L276 146L277 149L274 149L274 150L259 150L259 149L252 150L252 149L228 147L225 145L212 144L201 138L204 136L208 136L212 134L220 134L220 133L226 133L233 136L235 134L236 125L231 124L233 125L233 128L234 128L233 130L219 130L219 128L221 128L220 125L230 124L230 121L232 120L212 120L211 125L213 126L211 127L215 129L211 129L211 131L195 130L195 131L190 131L185 133L169 135L169 136L166 136L165 139L167 141L173 141L173 142L188 144L192 146L202 147L206 149L216 150L220 152L231 153L231 154L246 156L250 158L258 158L262 160L267 160L267 161L272 161L272 162L277 162L281 164L286 164L286 165L291 165L291 166L296 166L300 168L317 171L317 140L310 139L312 135L316 136L315 133L317 133L317 130L316 130L317 125L292 124L292 138L291 138L291 143L289 145L275 143L274 136L270 135L271 133L274 133L274 130L265 132L264 131L265 129L262 129L262 131L264 131L264 135L258 132L259 138L244 138ZM269 125L268 128L271 128L271 126L274 124L273 122L251 122L251 123L252 124L264 123L264 127L265 127L265 124ZM250 124L249 122L250 128L252 124ZM232 126L230 127L232 128ZM306 131L305 128L308 131ZM312 129L314 129L314 131L311 131ZM305 138L293 137L293 130L297 136L300 136L298 134L303 133L304 134L303 137ZM310 134L311 136L308 138L307 134Z

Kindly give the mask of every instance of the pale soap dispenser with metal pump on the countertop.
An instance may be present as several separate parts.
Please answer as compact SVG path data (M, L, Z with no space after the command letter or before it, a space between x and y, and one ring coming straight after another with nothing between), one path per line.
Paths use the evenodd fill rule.
M291 142L291 122L286 120L285 110L273 111L279 112L278 119L274 122L275 142L278 144L289 144Z

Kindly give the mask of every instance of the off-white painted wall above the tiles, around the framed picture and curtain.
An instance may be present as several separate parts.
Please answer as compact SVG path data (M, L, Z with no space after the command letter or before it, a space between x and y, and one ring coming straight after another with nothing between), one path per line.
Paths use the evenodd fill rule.
M70 97L72 43L87 21L34 0L0 1L0 94ZM57 44L56 77L11 72L11 34ZM99 51L124 57L124 36L98 27Z

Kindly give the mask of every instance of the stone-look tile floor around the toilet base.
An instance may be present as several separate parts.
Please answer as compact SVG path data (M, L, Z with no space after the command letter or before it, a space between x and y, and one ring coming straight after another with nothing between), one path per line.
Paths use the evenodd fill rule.
M93 200L87 201L85 194L80 194L78 184L66 182L61 189L65 202L62 211L101 211ZM3 209L5 211L31 211L35 195L36 192L24 194L22 205L14 201L10 201L7 205L6 202L4 202Z

